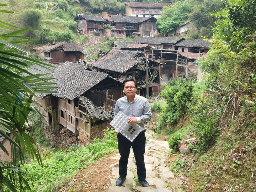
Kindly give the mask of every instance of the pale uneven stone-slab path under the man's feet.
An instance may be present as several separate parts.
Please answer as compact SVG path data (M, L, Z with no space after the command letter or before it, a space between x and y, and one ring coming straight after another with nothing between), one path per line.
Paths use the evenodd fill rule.
M146 131L146 149L144 161L146 166L146 180L150 187L142 187L136 183L137 168L135 158L131 149L128 161L128 174L122 187L116 186L118 174L118 162L110 165L112 171L111 187L108 192L183 192L180 187L182 182L179 178L175 178L174 174L165 165L165 158L169 151L169 145L166 141L159 141L152 138L153 132ZM111 159L119 160L119 153L112 156Z

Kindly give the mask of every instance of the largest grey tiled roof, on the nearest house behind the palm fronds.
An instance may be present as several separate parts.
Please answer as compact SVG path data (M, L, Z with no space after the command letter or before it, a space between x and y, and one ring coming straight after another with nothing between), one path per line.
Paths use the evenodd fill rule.
M62 65L53 66L56 66L56 68L51 68L53 73L50 73L50 70L41 68L38 65L33 65L28 71L33 74L46 74L43 77L56 78L50 80L51 82L57 82L54 86L58 87L53 90L57 91L57 93L53 93L52 95L61 98L73 100L84 94L84 92L91 87L97 85L103 79L110 78L113 80L113 78L106 73L86 70L87 66L82 64L66 62ZM49 95L49 93L38 94L38 97L42 98L46 95Z

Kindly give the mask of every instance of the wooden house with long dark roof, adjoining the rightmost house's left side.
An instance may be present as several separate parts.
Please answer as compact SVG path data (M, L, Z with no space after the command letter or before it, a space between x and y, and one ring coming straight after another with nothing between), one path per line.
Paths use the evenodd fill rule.
M183 37L153 37L153 38L137 38L135 42L140 44L149 44L156 49L174 49L174 44L182 41Z

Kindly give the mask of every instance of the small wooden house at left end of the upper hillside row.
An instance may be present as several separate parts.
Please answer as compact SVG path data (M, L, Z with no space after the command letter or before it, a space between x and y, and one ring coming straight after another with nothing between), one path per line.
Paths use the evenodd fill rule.
M76 15L74 21L78 23L78 32L81 35L102 35L104 34L104 24L107 23L102 17L84 14Z

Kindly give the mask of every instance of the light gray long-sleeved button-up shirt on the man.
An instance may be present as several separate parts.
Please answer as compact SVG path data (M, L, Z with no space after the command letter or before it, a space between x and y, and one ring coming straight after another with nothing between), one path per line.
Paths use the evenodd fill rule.
M135 94L135 98L132 102L127 100L127 97L121 97L117 100L114 116L117 115L119 111L122 111L128 117L136 117L137 123L145 130L144 122L151 119L152 113L149 106L149 102L145 97ZM118 130L116 130L118 132Z

